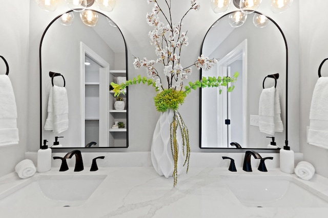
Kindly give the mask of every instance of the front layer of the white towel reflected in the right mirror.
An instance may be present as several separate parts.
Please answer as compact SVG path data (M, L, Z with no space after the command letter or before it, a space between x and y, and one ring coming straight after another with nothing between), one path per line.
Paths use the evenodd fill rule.
M275 102L275 87L264 88L260 95L259 100L259 129L260 132L274 135L275 122L274 122L274 102Z

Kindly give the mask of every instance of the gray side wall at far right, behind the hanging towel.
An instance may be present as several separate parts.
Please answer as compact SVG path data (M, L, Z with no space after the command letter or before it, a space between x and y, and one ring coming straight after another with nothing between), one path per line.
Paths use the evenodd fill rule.
M320 5L320 7L316 7ZM304 159L311 162L316 173L328 177L328 151L306 143L306 127L310 126L310 105L314 86L318 80L321 61L328 58L325 9L328 1L300 1L300 147ZM321 75L328 77L328 64L324 63Z

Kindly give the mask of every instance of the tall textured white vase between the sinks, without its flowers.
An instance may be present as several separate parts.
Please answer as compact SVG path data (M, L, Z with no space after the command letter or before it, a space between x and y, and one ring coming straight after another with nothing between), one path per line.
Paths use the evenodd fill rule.
M171 177L174 171L174 160L172 156L170 139L170 125L173 120L173 115L173 110L167 110L166 112L160 113L154 130L151 147L151 159L155 171L160 176L165 176L166 178ZM179 175L184 168L183 163L186 159L182 152L183 144L180 127L177 128L176 139L178 145L177 173Z

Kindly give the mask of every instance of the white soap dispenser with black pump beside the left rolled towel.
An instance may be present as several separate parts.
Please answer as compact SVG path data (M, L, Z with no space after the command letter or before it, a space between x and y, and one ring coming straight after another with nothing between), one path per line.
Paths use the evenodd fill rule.
M37 151L37 172L44 173L51 169L51 149L47 146L47 140L43 140L43 146Z

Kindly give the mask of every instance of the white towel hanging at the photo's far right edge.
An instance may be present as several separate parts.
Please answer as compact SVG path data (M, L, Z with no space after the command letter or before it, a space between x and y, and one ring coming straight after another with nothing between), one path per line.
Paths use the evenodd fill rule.
M310 108L308 142L328 149L328 77L320 77L314 87Z

